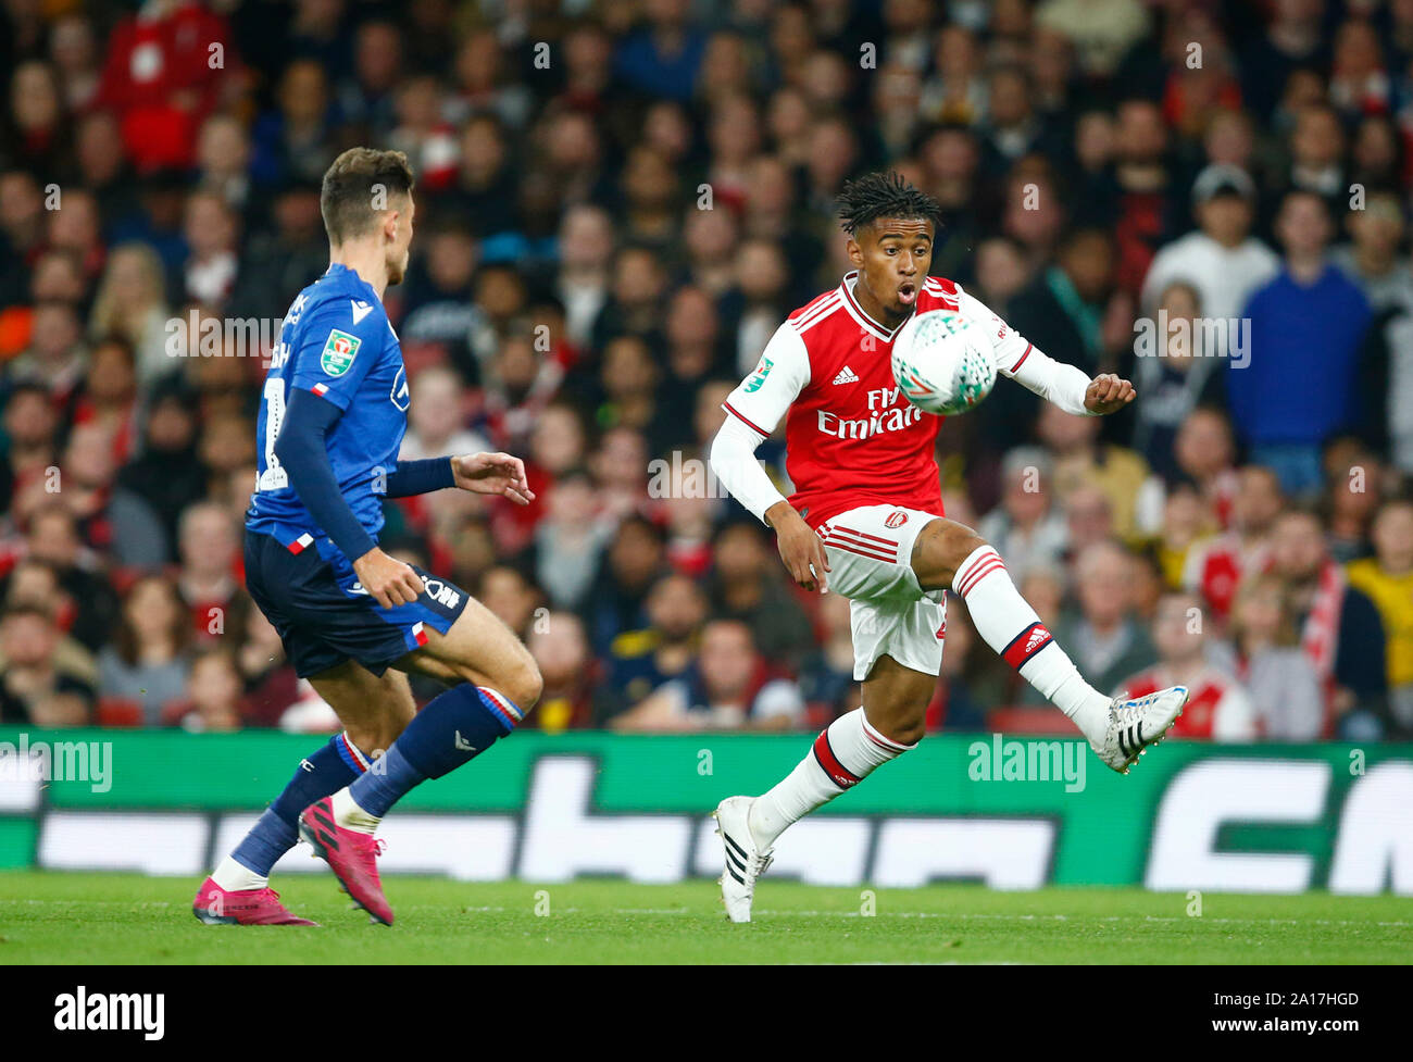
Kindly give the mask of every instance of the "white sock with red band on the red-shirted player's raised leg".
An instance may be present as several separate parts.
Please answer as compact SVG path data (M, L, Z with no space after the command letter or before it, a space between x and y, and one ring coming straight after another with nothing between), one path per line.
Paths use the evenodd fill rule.
M1102 741L1111 699L1096 691L1056 644L1030 607L1000 555L976 547L957 566L952 592L966 602L976 633L1047 700L1064 712L1091 741Z

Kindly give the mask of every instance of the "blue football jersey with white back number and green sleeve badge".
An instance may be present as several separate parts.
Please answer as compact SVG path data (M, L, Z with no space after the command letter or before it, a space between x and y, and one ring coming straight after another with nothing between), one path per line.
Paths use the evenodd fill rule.
M333 402L343 415L326 445L333 479L357 521L373 538L383 528L387 476L407 431L407 370L403 349L382 301L345 266L329 266L295 298L270 359L256 428L256 491L246 527L295 552L317 545L329 559L346 559L314 521L274 455L291 388Z

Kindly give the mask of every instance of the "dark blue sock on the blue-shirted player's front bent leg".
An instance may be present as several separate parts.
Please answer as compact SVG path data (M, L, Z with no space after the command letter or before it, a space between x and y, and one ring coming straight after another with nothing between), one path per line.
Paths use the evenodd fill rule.
M374 818L415 785L441 778L509 734L521 713L509 698L469 682L432 698L349 795Z

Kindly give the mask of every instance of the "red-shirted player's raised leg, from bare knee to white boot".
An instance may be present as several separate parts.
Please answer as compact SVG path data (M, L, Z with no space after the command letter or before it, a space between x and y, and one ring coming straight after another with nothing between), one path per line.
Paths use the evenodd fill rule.
M1085 682L1020 596L1000 555L969 527L945 518L927 524L913 547L913 571L924 590L945 587L966 602L986 644L1064 712L1095 754L1119 774L1128 774L1183 713L1186 686L1119 700Z

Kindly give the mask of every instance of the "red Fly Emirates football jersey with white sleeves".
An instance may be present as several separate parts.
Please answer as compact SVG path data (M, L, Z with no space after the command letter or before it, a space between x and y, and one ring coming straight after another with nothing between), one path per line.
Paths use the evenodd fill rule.
M942 513L935 441L940 417L911 405L893 381L901 330L873 321L853 297L858 273L794 311L722 408L762 436L786 421L790 504L811 527L859 506ZM1030 345L950 280L928 277L914 312L986 315L998 362L1019 369Z

